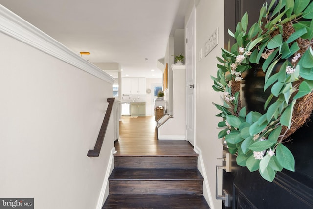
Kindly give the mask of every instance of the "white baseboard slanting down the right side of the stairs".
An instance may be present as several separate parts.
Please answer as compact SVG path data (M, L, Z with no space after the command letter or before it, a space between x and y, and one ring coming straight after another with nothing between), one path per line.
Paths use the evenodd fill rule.
M205 197L205 199L207 200L209 206L211 209L214 209L214 204L213 204L213 196L211 194L211 190L210 190L210 186L208 183L208 178L207 178L207 174L205 171L205 166L204 166L204 162L203 162L203 158L202 158L202 154L201 154L201 149L198 146L194 146L194 151L199 155L198 156L198 170L201 172L201 175L204 178L203 181L203 187L205 187L206 190L206 194L204 193L204 189L203 189L203 196Z

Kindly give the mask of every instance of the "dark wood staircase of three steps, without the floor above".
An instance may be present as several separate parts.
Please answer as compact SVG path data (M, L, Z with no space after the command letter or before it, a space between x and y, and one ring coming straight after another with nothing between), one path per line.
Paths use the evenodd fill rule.
M102 209L209 209L191 155L115 155Z

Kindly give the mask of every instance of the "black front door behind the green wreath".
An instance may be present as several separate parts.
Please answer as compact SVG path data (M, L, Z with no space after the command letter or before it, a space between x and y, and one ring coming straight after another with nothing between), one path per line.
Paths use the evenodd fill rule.
M246 11L249 22L255 22L253 19L258 18L263 3L264 0L225 0L225 35L228 28L235 31ZM310 120L291 135L290 142L284 143L295 158L295 172L277 172L274 181L268 182L258 171L251 173L238 166L235 157L231 158L227 162L230 172L223 170L223 189L229 194L229 201L227 207L224 201L222 208L313 209L313 116Z

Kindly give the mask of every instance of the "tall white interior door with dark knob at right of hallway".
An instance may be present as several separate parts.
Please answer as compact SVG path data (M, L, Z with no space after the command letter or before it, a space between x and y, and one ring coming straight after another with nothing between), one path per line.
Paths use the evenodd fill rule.
M187 140L195 145L195 9L186 25Z

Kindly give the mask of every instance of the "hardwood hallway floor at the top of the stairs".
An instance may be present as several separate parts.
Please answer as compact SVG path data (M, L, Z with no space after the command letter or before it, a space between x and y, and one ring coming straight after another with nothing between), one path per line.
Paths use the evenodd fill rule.
M119 139L115 143L115 156L158 155L190 156L196 155L193 146L185 140L157 140L156 125L153 116L122 116Z

